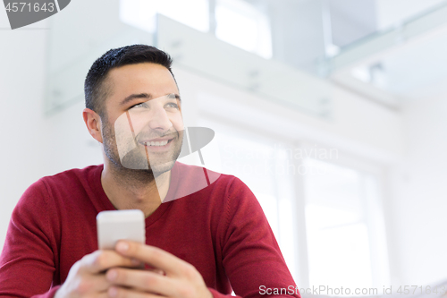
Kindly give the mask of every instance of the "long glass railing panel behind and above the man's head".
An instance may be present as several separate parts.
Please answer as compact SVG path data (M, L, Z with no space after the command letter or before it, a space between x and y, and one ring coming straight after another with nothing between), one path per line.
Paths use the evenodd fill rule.
M73 3L71 9L81 10L82 5ZM234 47L213 34L194 30L161 14L156 17L156 32L150 33L119 21L118 1L111 1L107 12L103 7L99 9L101 21L97 21L94 7L90 12L52 18L45 102L47 115L83 100L83 83L97 57L110 48L136 43L164 49L173 56L175 67L310 115L324 118L331 115L331 85L325 80ZM106 13L110 16L105 16ZM82 21L70 19L81 14L86 14ZM78 30L77 26L91 30Z

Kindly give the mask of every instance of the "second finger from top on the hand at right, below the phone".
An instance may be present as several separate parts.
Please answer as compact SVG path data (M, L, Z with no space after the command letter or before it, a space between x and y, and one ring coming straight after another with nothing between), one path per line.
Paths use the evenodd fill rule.
M146 270L111 268L105 277L113 285L127 286L166 296L174 294L173 279Z

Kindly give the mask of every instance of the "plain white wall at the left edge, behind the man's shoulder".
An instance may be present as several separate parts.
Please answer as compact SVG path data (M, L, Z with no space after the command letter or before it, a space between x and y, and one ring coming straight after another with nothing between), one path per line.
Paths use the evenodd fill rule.
M0 27L9 27L0 9ZM27 30L0 30L0 247L13 208L31 183L64 169L101 162L83 127L82 102L59 115L43 116L47 20Z

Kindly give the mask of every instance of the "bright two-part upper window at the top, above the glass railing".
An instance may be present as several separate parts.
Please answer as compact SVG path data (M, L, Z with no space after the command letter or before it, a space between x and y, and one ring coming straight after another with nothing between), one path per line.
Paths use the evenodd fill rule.
M156 32L156 13L202 32L210 29L208 0L120 0L121 21ZM216 0L215 37L266 59L272 37L266 13L242 0Z

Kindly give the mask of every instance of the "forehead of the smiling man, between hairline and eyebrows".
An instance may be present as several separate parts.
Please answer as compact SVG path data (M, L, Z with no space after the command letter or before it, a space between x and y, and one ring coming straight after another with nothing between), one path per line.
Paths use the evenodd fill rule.
M111 99L131 94L148 93L157 98L167 93L178 93L177 84L169 70L160 64L129 64L112 69L105 80Z

